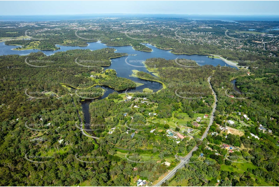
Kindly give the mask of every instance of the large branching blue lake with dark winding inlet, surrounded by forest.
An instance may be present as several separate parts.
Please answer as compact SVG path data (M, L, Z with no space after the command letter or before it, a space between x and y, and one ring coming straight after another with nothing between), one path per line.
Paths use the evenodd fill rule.
M229 64L226 64L224 61L222 61L220 59L208 58L207 55L173 54L173 53L170 52L171 50L159 49L159 48L156 48L156 47L152 46L151 44L144 44L144 45L151 48L153 50L152 52L135 51L131 46L119 46L119 47L106 46L105 44L101 43L100 41L90 42L88 44L89 45L86 46L86 47L57 45L58 47L60 47L60 49L57 50L57 51L42 51L42 52L46 55L52 55L52 54L54 54L55 52L58 52L58 51L67 51L67 50L73 50L73 49L97 50L97 49L108 47L108 48L115 48L117 50L115 52L128 53L129 56L113 58L113 59L111 59L111 65L110 66L104 66L105 69L115 69L115 71L117 72L118 77L125 77L125 78L131 79L135 82L144 84L142 86L129 89L129 90L127 90L127 92L136 92L136 91L141 92L144 88L149 88L149 89L153 90L154 92L162 89L162 84L161 83L158 83L158 82L155 82L155 81L150 81L150 80L143 80L143 79L139 79L139 78L136 78L136 77L131 77L132 70L148 72L146 70L146 68L144 67L144 64L142 63L143 61L145 61L148 58L164 58L164 59L167 59L167 60L171 60L171 59L176 59L178 57L179 59L184 58L184 59L194 60L201 66L205 65L205 64L209 64L209 65L213 65L213 66L217 66L218 64L220 64L221 66L225 66L225 65L230 66ZM38 49L24 50L24 51L12 50L13 48L17 48L17 47L18 46L5 45L4 42L1 42L0 43L0 55L9 55L9 54L28 55L31 52L41 51L41 50L38 50ZM128 63L126 63L126 62L128 62ZM73 62L73 63L75 63L75 62ZM135 67L135 66L140 66L140 67ZM230 67L232 67L232 66L230 66ZM148 72L148 73L150 73L150 72ZM108 97L108 94L115 91L115 90L113 90L113 89L111 89L107 86L101 86L101 87L103 89L105 89L106 92L103 96L101 96L97 99L103 99L105 97ZM120 90L120 91L117 91L117 92L118 93L124 93L125 90ZM95 99L85 100L81 103L86 123L90 123L89 104L93 100L95 100ZM86 128L89 128L89 127L86 127ZM94 133L92 131L88 131L88 133L94 135Z

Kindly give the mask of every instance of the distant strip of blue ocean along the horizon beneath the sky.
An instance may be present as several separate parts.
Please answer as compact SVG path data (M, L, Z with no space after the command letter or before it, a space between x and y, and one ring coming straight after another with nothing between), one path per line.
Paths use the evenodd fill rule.
M279 21L279 15L179 15L179 14L84 14L84 15L29 15L1 16L0 21L61 21L113 18L189 18L193 20L220 21Z

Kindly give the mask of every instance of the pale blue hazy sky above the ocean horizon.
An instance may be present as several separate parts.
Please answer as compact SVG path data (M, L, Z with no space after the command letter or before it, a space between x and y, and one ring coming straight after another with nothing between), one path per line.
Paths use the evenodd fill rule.
M0 15L279 15L279 1L0 1Z

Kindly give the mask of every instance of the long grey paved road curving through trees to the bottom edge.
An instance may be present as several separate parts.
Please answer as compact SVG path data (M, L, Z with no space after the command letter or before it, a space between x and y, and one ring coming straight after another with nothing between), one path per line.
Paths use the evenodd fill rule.
M214 100L215 100L215 102L214 102L214 104L213 104L213 110L212 110L212 113L211 113L211 117L210 117L210 121L209 121L208 127L206 128L204 134L201 136L201 140L203 140L203 139L207 136L208 130L209 130L210 126L211 126L212 123L213 123L213 117L214 117L213 114L214 114L214 112L215 112L216 103L217 103L217 97L216 97L216 94L215 94L214 90L212 89L211 84L210 84L210 78L211 78L211 77L208 77L208 82L209 82L210 88L211 88L211 90L212 90L212 92L213 92L213 94L214 94ZM197 149L198 149L198 147L195 146L195 147L188 153L187 156L185 156L185 157L179 157L179 158L181 159L181 162L180 162L174 169L172 169L171 172L168 173L168 175L166 175L163 179L161 179L161 180L160 180L156 185L154 185L154 186L160 186L160 185L161 185L163 182L165 182L166 180L171 179L171 178L174 176L174 174L175 174L175 172L177 171L177 169L183 168L184 165L185 165L185 164L189 161L189 159L191 158L192 153L193 153L194 151L196 151Z

